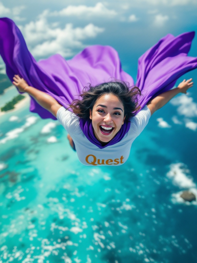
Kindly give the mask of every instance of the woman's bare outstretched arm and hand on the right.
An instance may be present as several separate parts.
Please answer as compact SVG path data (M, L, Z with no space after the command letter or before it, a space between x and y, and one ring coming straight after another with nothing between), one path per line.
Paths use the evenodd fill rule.
M148 108L151 111L151 115L158 109L162 108L169 100L171 100L178 93L186 93L189 88L193 86L192 79L183 80L177 88L168 90L164 93L161 93L154 99L150 100L147 103Z

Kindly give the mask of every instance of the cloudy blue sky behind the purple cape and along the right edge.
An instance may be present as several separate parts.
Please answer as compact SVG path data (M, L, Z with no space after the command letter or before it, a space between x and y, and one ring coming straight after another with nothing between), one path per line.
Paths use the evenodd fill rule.
M196 0L114 0L114 1L0 1L0 17L14 20L27 46L39 60L55 53L72 58L88 45L111 45L120 56L123 70L136 80L138 58L160 38L197 31ZM197 56L195 36L189 55ZM0 61L1 73L4 64ZM197 70L184 76L193 78L189 95L174 98L186 127L197 130ZM182 77L181 80L184 78ZM163 119L159 125L166 125ZM180 124L177 119L174 123ZM162 124L163 123L163 124ZM190 124L188 124L190 123Z

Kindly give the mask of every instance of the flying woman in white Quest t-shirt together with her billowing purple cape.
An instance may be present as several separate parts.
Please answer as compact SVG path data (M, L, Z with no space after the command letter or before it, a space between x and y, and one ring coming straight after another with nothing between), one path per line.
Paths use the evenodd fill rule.
M177 89L170 90L176 80L197 67L197 58L187 56L194 32L178 37L168 34L139 58L137 86L140 92L137 88L132 90L135 93L133 97L130 96L131 89L124 84L125 81L133 86L133 79L121 69L118 54L112 47L95 45L87 47L68 61L57 54L37 63L12 20L0 19L0 29L0 53L8 77L12 80L16 74L13 84L19 91L29 93L32 112L37 112L42 118L57 117L60 120L76 144L80 161L86 165L124 163L132 141L146 126L150 115L174 95L185 93L192 86L190 79L180 83ZM119 84L109 84L111 77L121 81ZM95 89L100 90L98 96L92 94L94 88L90 90L92 102L90 105L84 104L90 118L87 118L87 112L86 118L82 118L80 114L84 114L84 106L81 113L78 112L80 107L74 96L79 95L87 83L93 87L98 83L103 84ZM103 90L105 83L108 84ZM113 92L115 83L123 93L126 92L125 97L130 92L130 101L134 104L133 113L131 109L128 111L130 115L121 95ZM140 107L136 104L137 100ZM111 131L108 132L108 129Z

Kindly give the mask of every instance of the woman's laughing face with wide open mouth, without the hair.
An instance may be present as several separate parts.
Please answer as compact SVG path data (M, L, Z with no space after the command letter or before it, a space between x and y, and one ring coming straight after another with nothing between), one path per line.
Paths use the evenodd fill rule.
M118 97L105 94L96 101L92 111L90 110L90 119L97 140L107 143L124 123L124 107Z

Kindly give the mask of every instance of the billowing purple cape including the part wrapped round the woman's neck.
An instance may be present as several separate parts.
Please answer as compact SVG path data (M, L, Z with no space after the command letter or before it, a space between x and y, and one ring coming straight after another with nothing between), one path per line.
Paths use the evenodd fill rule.
M197 58L187 56L193 38L194 32L178 37L168 34L139 58L136 85L142 92L141 107L151 98L171 89L183 74L197 68ZM94 86L115 78L134 85L133 78L122 70L118 53L110 46L87 47L68 61L56 54L36 62L20 30L9 18L0 19L0 54L11 81L14 74L19 74L29 85L51 95L65 108L88 83ZM33 98L30 111L43 119L56 119ZM80 127L92 143L104 148L120 141L128 132L130 123L125 122L106 146L95 138L91 121L81 120Z

